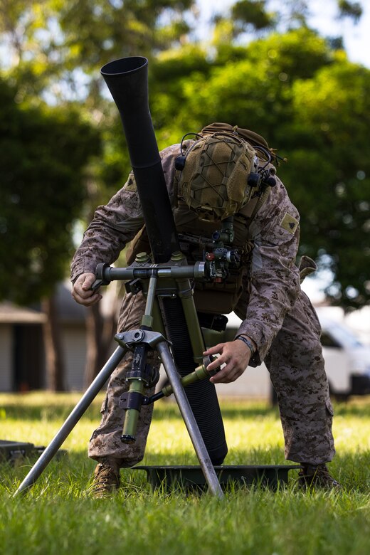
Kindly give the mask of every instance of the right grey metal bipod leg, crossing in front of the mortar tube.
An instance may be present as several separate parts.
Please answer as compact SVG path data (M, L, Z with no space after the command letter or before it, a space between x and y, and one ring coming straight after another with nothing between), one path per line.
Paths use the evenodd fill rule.
M176 370L176 366L169 351L169 346L165 341L162 341L157 343L157 350L161 356L169 383L174 391L174 396L179 406L181 416L184 419L191 442L194 445L194 450L201 465L201 469L203 470L203 475L208 483L208 487L213 495L222 498L223 491L221 490L220 482L218 482L216 472L206 449L206 445L204 444L198 424L194 418L193 411L191 411L191 406L181 384L181 378Z

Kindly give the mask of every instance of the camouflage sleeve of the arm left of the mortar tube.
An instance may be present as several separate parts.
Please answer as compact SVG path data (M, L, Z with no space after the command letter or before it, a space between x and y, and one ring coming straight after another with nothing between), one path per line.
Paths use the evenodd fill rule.
M99 263L112 264L142 228L144 218L133 174L105 206L98 206L71 264L71 279L95 273Z

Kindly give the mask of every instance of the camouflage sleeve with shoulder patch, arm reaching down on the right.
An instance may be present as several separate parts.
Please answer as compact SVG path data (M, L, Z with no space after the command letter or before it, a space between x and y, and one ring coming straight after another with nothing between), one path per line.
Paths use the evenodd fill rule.
M285 187L276 180L268 200L250 225L250 238L254 241L250 290L248 301L243 303L242 299L236 310L243 319L237 336L248 335L258 347L252 359L254 366L265 358L300 292L300 275L295 265L300 216Z

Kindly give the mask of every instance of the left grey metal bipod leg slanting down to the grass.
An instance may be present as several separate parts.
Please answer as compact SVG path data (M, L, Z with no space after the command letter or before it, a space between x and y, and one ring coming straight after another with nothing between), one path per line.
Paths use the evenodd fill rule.
M60 446L68 437L68 435L73 430L75 425L78 423L81 416L83 416L83 413L85 413L85 411L88 409L90 404L93 402L93 400L97 396L97 393L99 393L102 386L104 386L105 382L112 374L112 371L115 370L117 365L125 356L126 351L127 349L124 349L121 346L115 349L115 352L112 354L112 356L110 356L110 359L102 367L99 374L97 374L93 383L85 391L83 397L80 399L80 401L75 406L75 408L73 408L73 411L70 413L67 420L58 431L58 433L56 433L53 440L51 440L51 443L49 443L46 450L43 451L40 458L38 458L36 463L28 472L28 475L26 475L23 482L18 487L18 490L16 490L16 492L14 493L13 497L16 497L18 493L21 493L23 492L23 490L28 489L36 482L38 477L41 475L41 472L45 470L45 468L47 467L48 463L51 461L53 456L56 455Z

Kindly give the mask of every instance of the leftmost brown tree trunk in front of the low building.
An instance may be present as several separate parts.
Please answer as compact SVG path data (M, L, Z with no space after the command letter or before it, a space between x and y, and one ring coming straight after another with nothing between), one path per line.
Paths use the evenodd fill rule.
M42 307L47 317L43 325L47 388L50 391L65 391L65 364L55 293L43 300Z

